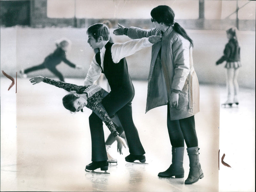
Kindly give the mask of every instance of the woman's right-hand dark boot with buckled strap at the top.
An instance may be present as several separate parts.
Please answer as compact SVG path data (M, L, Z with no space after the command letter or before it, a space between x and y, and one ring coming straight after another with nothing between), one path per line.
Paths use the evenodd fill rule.
M201 165L199 163L198 150L198 147L187 148L190 168L188 178L185 180L185 184L193 184L204 177Z

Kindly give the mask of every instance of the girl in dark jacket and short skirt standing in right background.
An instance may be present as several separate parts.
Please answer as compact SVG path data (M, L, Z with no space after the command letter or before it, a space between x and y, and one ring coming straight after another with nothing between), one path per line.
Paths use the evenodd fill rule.
M227 79L227 89L228 89L228 100L222 105L232 106L233 103L236 105L238 102L238 82L237 77L239 73L240 63L240 47L238 45L236 37L236 27L229 28L227 32L228 43L224 49L224 55L216 62L216 65L227 61L225 68L227 69L226 79ZM232 94L234 92L234 94ZM232 97L233 95L233 97Z

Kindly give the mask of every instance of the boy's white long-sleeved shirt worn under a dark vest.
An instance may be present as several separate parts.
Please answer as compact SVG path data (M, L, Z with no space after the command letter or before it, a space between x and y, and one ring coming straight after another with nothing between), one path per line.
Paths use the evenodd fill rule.
M124 43L114 43L111 47L111 56L114 63L118 63L121 59L126 56L134 54L136 51L139 51L142 48L150 47L153 43L148 41L147 37L141 39L134 39ZM106 48L103 46L100 49L100 58L101 58L101 67L103 69L103 60L105 55ZM104 71L104 69L103 69ZM95 81L98 80L101 74L101 68L96 62L95 55L93 56L92 63L87 72L86 78L84 80L84 85L92 85Z

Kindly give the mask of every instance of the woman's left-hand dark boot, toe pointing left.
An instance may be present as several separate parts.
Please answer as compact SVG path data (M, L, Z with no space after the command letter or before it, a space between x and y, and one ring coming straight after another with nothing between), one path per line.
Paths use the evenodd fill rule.
M183 168L183 157L184 157L184 147L172 147L172 164L170 167L158 174L158 177L173 177L183 178L184 168Z

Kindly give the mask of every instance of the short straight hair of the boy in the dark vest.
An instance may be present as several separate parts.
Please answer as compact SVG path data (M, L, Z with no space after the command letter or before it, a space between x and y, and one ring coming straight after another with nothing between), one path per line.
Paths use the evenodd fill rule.
M94 25L89 26L86 32L87 34L91 34L97 42L100 36L105 41L109 40L108 26L103 23L96 23Z

